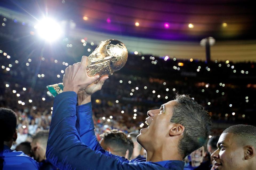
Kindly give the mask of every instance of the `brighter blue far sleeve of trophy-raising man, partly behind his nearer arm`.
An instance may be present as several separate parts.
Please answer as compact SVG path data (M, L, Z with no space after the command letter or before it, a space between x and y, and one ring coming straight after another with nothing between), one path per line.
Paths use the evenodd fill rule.
M77 116L76 128L81 138L81 142L89 146L92 150L100 151L102 154L111 156L113 158L117 158L122 162L129 162L128 159L122 156L113 155L110 152L105 151L101 147L94 133L95 128L94 128L92 114L93 113L92 113L91 102L83 105L79 105L76 107L76 116Z

